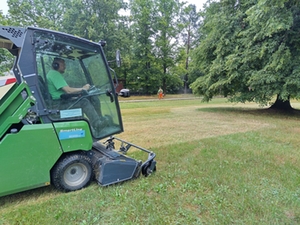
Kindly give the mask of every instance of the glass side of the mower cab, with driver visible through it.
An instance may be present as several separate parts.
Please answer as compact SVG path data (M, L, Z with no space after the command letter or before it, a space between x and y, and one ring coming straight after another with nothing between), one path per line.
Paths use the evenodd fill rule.
M120 110L100 45L45 31L35 32L34 43L40 94L46 108L58 112L49 118L87 120L96 138L120 133ZM66 86L78 91L68 93Z

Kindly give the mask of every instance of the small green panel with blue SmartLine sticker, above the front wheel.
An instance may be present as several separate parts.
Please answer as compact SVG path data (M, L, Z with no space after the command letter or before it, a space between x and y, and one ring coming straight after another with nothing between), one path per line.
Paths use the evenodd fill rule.
M86 121L59 122L53 125L63 152L92 149L93 138Z

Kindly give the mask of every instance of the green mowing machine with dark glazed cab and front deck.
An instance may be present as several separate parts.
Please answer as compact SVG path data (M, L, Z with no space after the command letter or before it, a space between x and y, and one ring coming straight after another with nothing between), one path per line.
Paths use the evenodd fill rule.
M118 96L129 93L117 94L104 45L46 29L0 26L0 47L15 57L14 76L0 77L0 93L5 88L0 95L0 196L50 184L75 191L93 179L107 186L156 170L155 153L113 136L123 132ZM63 77L69 86L90 84L90 89L53 99L47 73L55 68L55 58L67 65ZM116 61L120 64L118 51ZM88 118L85 104L78 107L87 100L98 102L98 121ZM131 147L148 154L146 160L127 156Z

